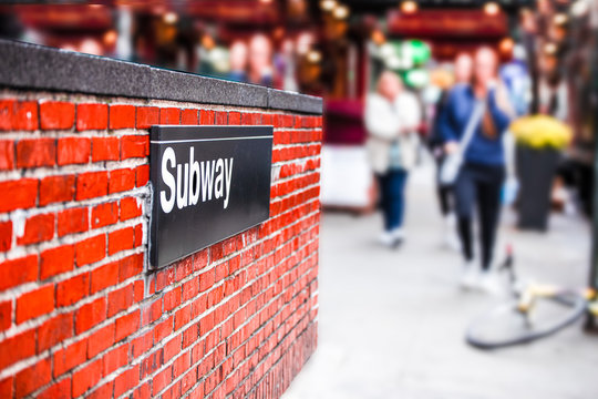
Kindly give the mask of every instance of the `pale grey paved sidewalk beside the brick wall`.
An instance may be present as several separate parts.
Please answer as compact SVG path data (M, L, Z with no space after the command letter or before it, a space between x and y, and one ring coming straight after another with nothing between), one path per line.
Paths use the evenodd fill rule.
M468 320L496 303L456 288L457 254L440 246L432 171L411 176L408 241L392 252L380 215L327 213L321 223L319 345L285 399L598 398L598 336L571 327L525 347L464 344ZM550 233L503 217L519 274L574 287L587 282L589 226L555 215Z

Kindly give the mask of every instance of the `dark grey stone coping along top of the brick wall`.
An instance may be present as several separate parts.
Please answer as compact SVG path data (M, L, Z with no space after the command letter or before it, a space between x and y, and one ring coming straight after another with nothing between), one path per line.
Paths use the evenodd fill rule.
M322 99L0 39L0 86L322 113Z

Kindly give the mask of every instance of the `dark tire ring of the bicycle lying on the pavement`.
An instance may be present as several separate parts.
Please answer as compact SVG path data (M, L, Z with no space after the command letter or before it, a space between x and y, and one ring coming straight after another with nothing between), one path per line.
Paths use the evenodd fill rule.
M485 313L481 317L477 317L467 328L465 334L465 340L471 346L478 348L478 349L497 349L497 348L504 348L515 345L522 345L527 344L544 337L548 337L553 334L558 332L563 328L574 324L577 321L580 317L584 316L587 308L587 301L586 299L577 294L571 291L565 291L559 293L551 297L544 297L542 299L551 300L555 303L558 303L563 306L570 307L568 311L566 311L565 316L559 317L557 320L554 320L554 323L549 323L548 326L537 329L537 330L529 330L527 332L522 334L515 334L513 337L505 338L505 339L487 339L480 336L478 328L480 326L483 326L484 323L487 323L493 315L496 315L498 309L506 309L507 311L511 311L513 317L514 315L519 315L516 310L517 303L512 301L508 304L503 304L502 306L494 307L491 311Z

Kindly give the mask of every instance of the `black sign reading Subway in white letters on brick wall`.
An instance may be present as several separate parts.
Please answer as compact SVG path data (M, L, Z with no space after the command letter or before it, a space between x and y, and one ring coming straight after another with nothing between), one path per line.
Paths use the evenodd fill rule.
M271 126L153 126L152 266L268 219L271 155Z

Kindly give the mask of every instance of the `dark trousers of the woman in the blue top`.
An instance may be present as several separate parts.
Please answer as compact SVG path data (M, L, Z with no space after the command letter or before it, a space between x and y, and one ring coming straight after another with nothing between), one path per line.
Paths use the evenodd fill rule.
M505 180L504 166L466 163L455 183L458 235L465 259L473 258L472 218L474 207L480 213L480 244L482 246L482 268L492 263L496 229L501 215L501 188Z

